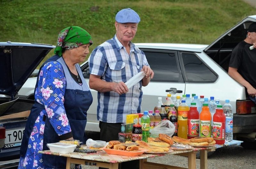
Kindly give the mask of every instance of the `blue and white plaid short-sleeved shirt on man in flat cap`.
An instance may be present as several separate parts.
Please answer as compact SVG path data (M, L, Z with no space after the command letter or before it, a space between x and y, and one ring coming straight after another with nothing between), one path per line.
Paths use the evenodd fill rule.
M143 51L130 42L130 53L116 35L96 47L88 58L90 73L101 76L103 81L126 82L139 73L148 61ZM142 82L138 82L125 94L114 91L98 92L97 119L108 123L125 123L126 115L140 113Z

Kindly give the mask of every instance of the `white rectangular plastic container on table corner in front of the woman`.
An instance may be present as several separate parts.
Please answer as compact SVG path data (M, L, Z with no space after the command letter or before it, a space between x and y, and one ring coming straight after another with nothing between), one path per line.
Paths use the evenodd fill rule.
M67 154L72 153L76 149L76 144L67 144L63 142L48 143L47 147L53 153Z

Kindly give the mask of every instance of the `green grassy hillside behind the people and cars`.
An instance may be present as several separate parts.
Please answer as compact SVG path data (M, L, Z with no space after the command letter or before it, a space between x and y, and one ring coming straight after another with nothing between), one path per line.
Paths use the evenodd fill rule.
M92 35L92 51L114 36L115 15L128 7L141 18L133 42L209 44L256 14L241 0L0 0L0 42L56 45L59 31L74 25Z

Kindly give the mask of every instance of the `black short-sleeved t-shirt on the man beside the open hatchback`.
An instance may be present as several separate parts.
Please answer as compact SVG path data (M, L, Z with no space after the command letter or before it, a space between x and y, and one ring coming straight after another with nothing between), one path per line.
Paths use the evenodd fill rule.
M239 42L232 51L229 67L237 68L237 72L256 88L256 49L250 50L250 46L252 44L245 41Z

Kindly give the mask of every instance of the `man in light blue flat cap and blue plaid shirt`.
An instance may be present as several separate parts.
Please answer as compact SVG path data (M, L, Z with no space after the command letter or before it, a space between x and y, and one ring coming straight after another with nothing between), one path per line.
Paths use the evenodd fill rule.
M100 120L100 140L118 140L126 115L140 113L142 86L147 86L154 73L143 51L131 41L139 15L130 8L116 14L116 35L96 47L90 56L89 86L98 91L97 118ZM132 88L124 82L144 71L146 76Z

